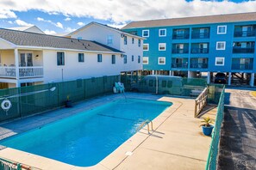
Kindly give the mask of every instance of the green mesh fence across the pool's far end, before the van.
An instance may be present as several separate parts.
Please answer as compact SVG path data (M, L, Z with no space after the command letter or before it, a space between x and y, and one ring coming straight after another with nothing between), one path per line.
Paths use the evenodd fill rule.
M126 91L152 94L171 94L197 97L205 87L206 79L178 76L121 76Z

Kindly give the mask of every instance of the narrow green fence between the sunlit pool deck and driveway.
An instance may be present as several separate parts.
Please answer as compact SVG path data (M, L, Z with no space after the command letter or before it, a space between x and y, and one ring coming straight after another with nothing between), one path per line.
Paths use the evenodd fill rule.
M224 95L225 95L225 87L222 88L222 93L220 95L217 114L215 118L215 128L212 133L212 140L210 143L209 155L208 155L208 159L205 167L206 170L215 170L217 166L217 156L219 151L222 120L224 116Z

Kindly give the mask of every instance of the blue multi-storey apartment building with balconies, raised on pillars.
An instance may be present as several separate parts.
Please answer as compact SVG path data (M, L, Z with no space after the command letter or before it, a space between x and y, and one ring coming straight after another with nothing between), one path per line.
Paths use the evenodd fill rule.
M207 15L133 21L122 28L146 38L143 70L150 74L196 77L207 73L208 82L223 72L254 85L256 72L256 13Z

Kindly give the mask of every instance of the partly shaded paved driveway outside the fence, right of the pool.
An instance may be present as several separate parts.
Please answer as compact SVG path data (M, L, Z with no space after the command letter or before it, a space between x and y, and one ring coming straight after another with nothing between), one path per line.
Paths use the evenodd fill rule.
M256 169L256 98L226 89L219 169Z

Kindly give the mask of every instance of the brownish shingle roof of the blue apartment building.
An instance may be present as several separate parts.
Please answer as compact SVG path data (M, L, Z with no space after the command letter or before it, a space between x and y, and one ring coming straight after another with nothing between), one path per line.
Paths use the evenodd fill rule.
M205 15L193 16L184 18L171 18L161 20L149 21L132 21L122 29L134 27L162 27L162 26L183 26L183 25L197 25L209 23L224 23L224 22L237 22L237 21L256 21L256 12L251 13L238 13L228 15Z

